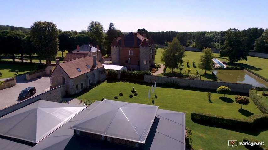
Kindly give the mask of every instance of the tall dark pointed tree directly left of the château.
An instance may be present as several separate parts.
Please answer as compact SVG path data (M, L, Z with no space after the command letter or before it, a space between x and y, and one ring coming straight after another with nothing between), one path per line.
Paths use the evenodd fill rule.
M121 33L122 32L120 30L117 30L114 27L114 24L112 22L109 23L109 29L106 32L106 37L105 37L105 42L104 42L106 53L108 55L111 55L111 44L112 44L113 39L117 38L118 36L120 36Z

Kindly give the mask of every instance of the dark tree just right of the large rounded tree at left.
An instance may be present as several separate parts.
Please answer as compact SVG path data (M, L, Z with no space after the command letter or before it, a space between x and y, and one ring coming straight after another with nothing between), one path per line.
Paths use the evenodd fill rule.
M72 51L72 43L70 37L73 35L70 31L63 31L59 33L59 51L61 51L62 57L64 51Z

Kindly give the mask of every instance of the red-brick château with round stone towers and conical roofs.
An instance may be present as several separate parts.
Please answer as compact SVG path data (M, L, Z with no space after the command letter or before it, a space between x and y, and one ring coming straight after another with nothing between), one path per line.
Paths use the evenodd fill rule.
M129 70L149 70L155 63L156 43L152 38L147 39L136 32L112 41L111 57L112 64L123 65Z

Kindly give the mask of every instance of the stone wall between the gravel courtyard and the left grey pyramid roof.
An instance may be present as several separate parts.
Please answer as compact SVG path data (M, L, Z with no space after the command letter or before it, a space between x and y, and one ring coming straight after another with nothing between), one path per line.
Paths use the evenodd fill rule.
M53 88L51 90L48 90L44 93L41 93L39 95L36 95L32 98L28 98L24 101L21 101L19 103L16 103L14 105L11 105L7 108L3 108L2 110L0 110L0 117L8 114L8 113L11 113L19 108L22 108L26 105L29 105L30 103L34 103L38 100L45 100L45 101L51 101L51 102L61 102L61 87L56 87L56 88Z

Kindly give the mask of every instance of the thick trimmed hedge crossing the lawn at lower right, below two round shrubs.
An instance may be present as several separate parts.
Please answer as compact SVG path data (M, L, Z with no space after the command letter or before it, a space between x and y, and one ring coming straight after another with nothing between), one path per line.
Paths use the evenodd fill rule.
M256 114L245 119L238 119L207 113L193 112L191 113L191 119L195 123L208 126L251 131L254 129L267 128L268 114Z

